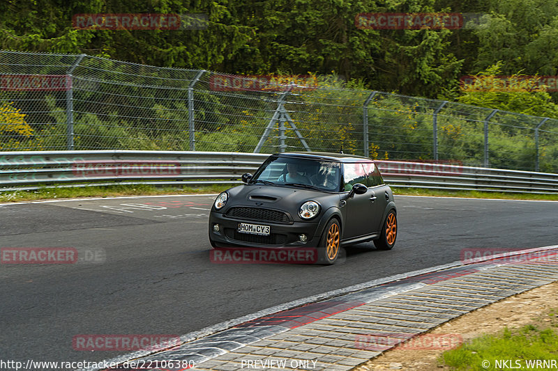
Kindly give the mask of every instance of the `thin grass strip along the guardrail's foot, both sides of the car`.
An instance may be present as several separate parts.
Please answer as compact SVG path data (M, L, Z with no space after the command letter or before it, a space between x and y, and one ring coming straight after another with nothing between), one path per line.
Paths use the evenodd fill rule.
M110 197L110 196L143 196L163 194L217 194L230 185L215 184L200 187L155 187L153 185L110 185L90 187L43 187L36 191L0 191L0 202L18 202L47 200L52 198L82 198L82 197ZM432 189L396 188L393 193L408 196L444 196L465 198L501 198L509 200L556 200L558 194L510 194L505 192L481 191L437 191Z

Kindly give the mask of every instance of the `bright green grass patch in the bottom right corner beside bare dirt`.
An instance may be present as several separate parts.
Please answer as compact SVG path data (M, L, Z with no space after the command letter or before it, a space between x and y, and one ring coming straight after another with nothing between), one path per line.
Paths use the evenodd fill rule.
M557 327L558 315L552 310L542 323L529 324L513 331L505 328L499 336L474 338L444 352L439 361L452 370L556 370Z

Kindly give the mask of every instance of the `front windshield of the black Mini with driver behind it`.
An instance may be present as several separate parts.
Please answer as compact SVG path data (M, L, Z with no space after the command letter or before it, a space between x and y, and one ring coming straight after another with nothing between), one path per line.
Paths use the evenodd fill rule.
M251 182L339 191L339 168L333 161L272 157L260 166Z

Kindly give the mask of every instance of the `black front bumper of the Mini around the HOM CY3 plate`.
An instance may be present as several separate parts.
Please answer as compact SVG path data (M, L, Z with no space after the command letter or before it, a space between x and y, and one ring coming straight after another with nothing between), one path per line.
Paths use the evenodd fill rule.
M219 232L213 230L213 225L219 224ZM239 223L270 226L270 235L252 235L238 232ZM254 221L227 217L219 212L209 214L209 239L219 247L251 246L267 248L298 248L317 247L321 231L317 230L319 219L315 221L294 221L292 223L272 223L268 221ZM299 240L299 235L308 237L306 242Z

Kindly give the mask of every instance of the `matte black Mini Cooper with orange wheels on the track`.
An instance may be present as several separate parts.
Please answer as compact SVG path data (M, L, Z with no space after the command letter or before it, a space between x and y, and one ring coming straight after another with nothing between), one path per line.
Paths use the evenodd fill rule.
M343 245L397 237L393 194L374 161L326 152L271 155L245 184L217 196L209 214L216 247L317 248L333 264Z

